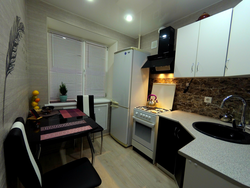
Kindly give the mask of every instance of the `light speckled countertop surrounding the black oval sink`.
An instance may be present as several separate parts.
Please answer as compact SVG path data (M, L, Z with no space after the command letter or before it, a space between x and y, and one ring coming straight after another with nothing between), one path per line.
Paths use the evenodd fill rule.
M195 139L181 148L179 154L197 162L200 166L235 183L240 187L250 187L250 145L222 141L202 134L192 126L196 121L215 122L231 126L218 119L198 114L172 111L161 117L179 122Z

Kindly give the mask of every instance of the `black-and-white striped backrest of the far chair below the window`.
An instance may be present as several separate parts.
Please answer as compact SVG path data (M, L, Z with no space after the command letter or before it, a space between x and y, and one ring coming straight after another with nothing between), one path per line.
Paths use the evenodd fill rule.
M77 108L95 121L94 95L77 95Z

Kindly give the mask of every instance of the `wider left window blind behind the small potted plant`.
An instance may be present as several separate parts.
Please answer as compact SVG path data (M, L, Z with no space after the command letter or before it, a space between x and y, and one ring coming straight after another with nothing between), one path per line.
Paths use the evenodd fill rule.
M59 99L59 85L66 84L68 99L83 92L82 42L51 35L50 100Z

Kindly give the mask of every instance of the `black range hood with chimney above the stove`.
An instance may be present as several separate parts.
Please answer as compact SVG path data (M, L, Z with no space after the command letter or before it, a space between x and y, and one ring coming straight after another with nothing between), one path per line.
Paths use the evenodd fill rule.
M160 30L158 54L148 56L142 68L150 68L152 74L174 72L174 33L171 26Z

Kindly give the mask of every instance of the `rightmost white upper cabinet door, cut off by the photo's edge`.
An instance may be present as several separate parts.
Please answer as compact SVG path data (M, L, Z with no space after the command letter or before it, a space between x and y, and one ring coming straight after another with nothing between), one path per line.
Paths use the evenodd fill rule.
M250 75L250 1L241 1L233 10L225 76Z

